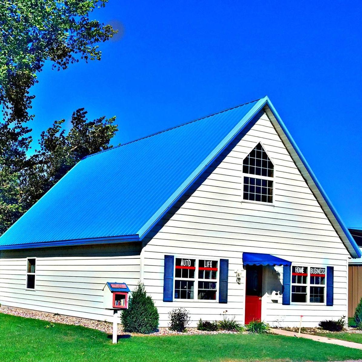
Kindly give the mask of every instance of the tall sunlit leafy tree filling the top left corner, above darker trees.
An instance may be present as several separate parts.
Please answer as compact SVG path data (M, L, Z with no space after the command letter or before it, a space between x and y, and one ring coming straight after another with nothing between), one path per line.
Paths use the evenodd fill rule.
M108 0L1 0L0 102L4 121L29 121L29 89L47 60L66 69L80 59L101 59L97 43L117 32L90 20Z

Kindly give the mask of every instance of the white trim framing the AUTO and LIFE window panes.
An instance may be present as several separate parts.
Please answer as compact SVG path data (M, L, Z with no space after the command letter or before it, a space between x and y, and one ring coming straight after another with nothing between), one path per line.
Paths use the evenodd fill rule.
M201 303L219 303L219 284L220 284L220 259L218 258L208 258L208 257L195 257L195 256L185 256L185 255L173 255L174 256L174 265L173 265L173 286L172 286L172 300L173 302L201 302ZM181 259L195 259L195 278L176 278L176 258ZM214 279L199 279L198 276L198 265L199 260L211 260L211 261L217 261L218 262L218 276L216 280ZM197 273L197 274L196 274ZM175 281L176 280L186 280L186 281L194 281L194 299L181 299L181 298L175 298ZM198 296L198 290L199 290L199 283L198 282L216 282L216 299L210 300L210 299L197 299Z

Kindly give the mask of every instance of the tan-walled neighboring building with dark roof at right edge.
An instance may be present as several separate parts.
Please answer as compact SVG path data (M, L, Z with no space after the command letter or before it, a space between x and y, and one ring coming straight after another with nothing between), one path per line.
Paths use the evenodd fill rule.
M362 247L362 228L349 229L353 239ZM362 258L350 259L348 265L348 316L353 317L362 298Z

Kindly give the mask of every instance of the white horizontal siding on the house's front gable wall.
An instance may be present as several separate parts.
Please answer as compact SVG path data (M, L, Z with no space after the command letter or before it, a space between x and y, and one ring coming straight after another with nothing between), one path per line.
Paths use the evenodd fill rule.
M242 164L258 142L274 163L274 203L243 202ZM348 252L294 164L271 122L263 115L246 135L235 139L218 160L197 180L147 236L143 254L143 281L159 309L160 325L168 324L168 312L185 307L191 325L199 318L218 320L224 310L244 322L245 272L236 282L234 270L242 270L243 252L270 253L307 266L334 266L334 306L290 305L273 302L275 282L265 268L262 317L272 325L315 326L322 319L346 315ZM228 303L164 303L164 255L229 260Z

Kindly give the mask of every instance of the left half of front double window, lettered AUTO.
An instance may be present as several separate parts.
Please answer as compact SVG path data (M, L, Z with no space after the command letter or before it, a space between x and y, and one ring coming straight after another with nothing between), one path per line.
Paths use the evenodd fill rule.
M196 259L176 258L175 299L194 299Z

